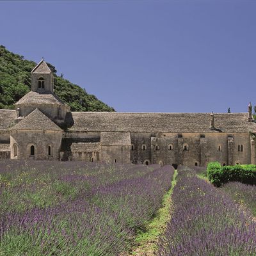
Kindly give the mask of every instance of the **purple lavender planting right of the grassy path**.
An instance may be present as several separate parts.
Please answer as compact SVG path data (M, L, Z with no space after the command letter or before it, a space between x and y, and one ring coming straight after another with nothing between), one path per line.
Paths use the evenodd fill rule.
M159 239L158 255L255 255L256 223L221 189L178 170L172 218Z

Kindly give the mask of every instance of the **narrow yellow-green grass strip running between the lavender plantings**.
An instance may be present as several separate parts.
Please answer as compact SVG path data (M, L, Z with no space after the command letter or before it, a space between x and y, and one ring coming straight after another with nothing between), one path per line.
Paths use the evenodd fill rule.
M157 237L164 231L166 223L170 220L170 209L172 205L172 192L176 185L177 170L175 170L172 186L170 190L164 195L162 207L157 211L156 216L145 223L145 229L139 230L135 239L136 246L132 250L131 255L154 255L157 251Z

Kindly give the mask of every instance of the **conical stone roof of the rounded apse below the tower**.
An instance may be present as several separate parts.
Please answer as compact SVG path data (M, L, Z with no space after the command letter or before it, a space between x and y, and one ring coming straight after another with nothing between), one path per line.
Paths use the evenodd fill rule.
M14 125L11 130L45 130L62 131L50 118L45 116L38 108L32 111L28 116Z

